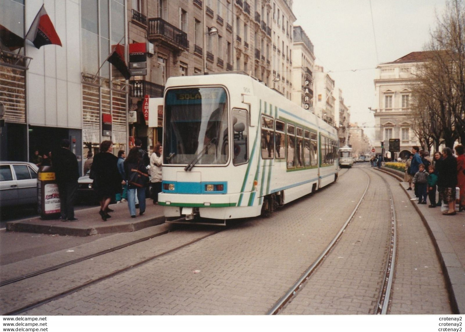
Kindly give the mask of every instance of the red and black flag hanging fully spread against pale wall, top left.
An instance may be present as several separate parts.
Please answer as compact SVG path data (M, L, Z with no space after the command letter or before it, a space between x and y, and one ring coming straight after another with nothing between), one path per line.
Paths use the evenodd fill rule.
M31 40L35 47L55 44L61 46L60 37L58 37L53 23L45 11L44 5L40 7L39 13L35 16L29 31L26 34L26 39Z

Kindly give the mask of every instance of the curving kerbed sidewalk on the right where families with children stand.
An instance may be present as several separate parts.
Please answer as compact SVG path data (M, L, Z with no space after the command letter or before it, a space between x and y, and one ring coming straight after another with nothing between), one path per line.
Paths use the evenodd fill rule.
M398 178L409 199L415 197L413 190L407 191L408 183L403 181L404 173L381 168ZM401 177L401 178L399 178ZM440 207L429 208L428 204L417 204L411 201L425 223L431 235L438 258L443 267L445 280L451 294L452 308L465 313L465 212L457 212L455 216L445 216Z

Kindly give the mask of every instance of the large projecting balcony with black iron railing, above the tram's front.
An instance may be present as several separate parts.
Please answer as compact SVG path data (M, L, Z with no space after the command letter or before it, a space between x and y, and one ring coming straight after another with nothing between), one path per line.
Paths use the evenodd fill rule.
M187 51L189 48L187 33L160 18L148 20L148 39L176 51Z

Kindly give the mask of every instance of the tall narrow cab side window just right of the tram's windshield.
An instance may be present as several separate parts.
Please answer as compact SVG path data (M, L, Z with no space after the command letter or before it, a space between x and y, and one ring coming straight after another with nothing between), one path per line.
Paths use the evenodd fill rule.
M249 160L247 148L248 125L247 111L233 110L234 144L233 144L233 165L242 165Z

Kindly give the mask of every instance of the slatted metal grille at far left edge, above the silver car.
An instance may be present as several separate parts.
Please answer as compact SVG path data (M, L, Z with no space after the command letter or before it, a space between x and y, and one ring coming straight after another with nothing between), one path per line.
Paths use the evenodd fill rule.
M0 65L0 101L7 122L26 123L25 71Z

